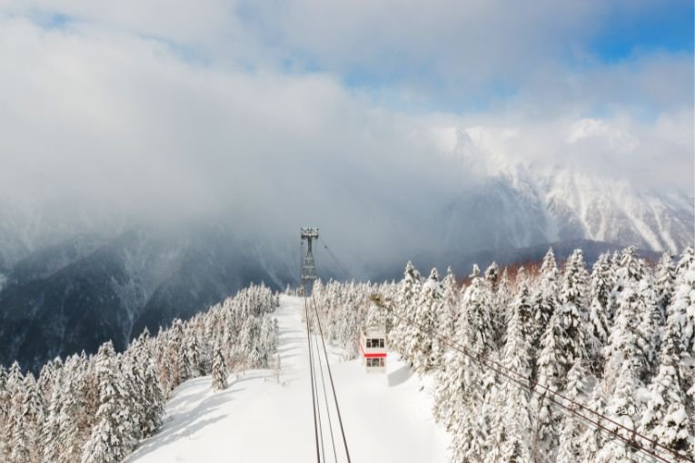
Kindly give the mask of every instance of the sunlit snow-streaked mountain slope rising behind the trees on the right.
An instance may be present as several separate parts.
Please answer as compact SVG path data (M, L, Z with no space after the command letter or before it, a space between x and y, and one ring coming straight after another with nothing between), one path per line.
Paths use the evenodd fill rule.
M498 134L498 138L503 138ZM693 245L692 192L653 191L611 172L528 163L482 129L448 133L442 150L478 183L442 212L444 248L523 248L586 239L682 251Z

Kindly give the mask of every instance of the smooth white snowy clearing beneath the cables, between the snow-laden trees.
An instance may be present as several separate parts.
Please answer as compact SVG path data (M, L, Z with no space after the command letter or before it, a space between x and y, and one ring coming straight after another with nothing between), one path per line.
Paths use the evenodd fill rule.
M167 404L164 429L145 440L126 461L315 461L302 301L283 297L274 314L280 325L284 385L277 383L273 371L264 369L239 379L230 376L229 387L222 392L211 390L209 377L187 381ZM359 360L341 362L334 355L332 369L353 462L448 461L449 437L434 423L431 399L419 390L420 381L402 363L391 357L386 374L366 374ZM319 392L323 399L323 390ZM324 415L324 428L325 422ZM333 432L337 447L337 422ZM333 461L330 441L325 438L326 461ZM339 452L338 461L346 461L344 452Z

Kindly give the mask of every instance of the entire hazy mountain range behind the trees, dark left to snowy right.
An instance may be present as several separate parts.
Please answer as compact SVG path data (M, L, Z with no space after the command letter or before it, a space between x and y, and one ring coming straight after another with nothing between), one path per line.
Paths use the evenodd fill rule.
M569 166L501 162L480 155L486 147L475 133L454 131L455 143L440 146L438 155L449 158L442 162L453 160L465 178L474 179L462 184L458 195L390 212L396 221L407 222L409 212L426 217L429 225L418 222L411 241L399 237L391 249L373 253L367 250L389 241L388 232L370 234L355 224L332 235L335 225L327 224L325 242L352 275L397 278L412 259L442 270L452 265L465 276L473 261L537 259L549 243L559 248L559 258L581 246L589 261L592 249L598 254L637 245L643 251L681 251L693 244L691 195L640 189ZM174 317L190 317L251 282L280 289L299 276L301 222L250 232L247 223L222 215L145 223L116 211L61 214L46 204L25 202L24 209L20 202L3 204L0 361L5 363L18 359L36 369L56 355L92 351L106 339L122 349L144 327L156 331ZM315 250L323 278L344 278L323 241Z

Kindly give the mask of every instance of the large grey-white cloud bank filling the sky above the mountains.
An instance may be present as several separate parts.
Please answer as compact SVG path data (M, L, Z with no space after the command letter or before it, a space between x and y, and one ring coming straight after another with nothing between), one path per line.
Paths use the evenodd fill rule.
M603 2L0 5L0 195L318 224L378 253L489 165L692 190L692 57L586 64ZM457 131L484 169L439 155Z

